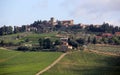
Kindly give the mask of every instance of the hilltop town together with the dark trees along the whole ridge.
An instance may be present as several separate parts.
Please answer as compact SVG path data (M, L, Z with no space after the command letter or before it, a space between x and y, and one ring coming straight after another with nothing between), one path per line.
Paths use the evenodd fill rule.
M19 32L37 32L37 33L47 33L52 31L85 31L85 32L110 32L114 34L120 31L120 27L110 25L109 23L103 23L101 25L94 24L74 24L74 20L55 20L54 17L50 20L38 20L34 21L29 25L22 26L2 26L0 28L0 35L7 35Z

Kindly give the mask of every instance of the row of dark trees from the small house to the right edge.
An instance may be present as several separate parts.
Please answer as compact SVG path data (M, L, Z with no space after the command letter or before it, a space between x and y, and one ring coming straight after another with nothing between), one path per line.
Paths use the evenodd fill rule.
M120 37L102 37L101 39L97 39L96 37L87 37L85 38L78 38L78 39L68 39L68 44L73 46L73 48L79 48L82 47L83 45L88 45L88 44L109 44L109 45L120 45Z

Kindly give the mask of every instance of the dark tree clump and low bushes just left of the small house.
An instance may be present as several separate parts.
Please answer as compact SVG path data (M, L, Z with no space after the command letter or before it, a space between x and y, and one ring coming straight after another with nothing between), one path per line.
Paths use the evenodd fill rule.
M56 46L61 45L60 40L52 41L50 38L40 38L39 46L19 46L18 51L56 51Z

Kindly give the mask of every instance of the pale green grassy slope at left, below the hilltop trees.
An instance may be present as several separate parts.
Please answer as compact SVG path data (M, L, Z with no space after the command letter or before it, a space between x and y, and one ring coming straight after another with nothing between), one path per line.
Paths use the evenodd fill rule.
M41 33L41 34L37 34L33 32L24 32L24 33L1 36L0 41L3 40L5 43L12 42L13 44L19 44L19 43L38 44L39 38L49 37L53 41L58 39L56 37L56 34L57 32ZM26 39L29 39L29 42L25 42Z

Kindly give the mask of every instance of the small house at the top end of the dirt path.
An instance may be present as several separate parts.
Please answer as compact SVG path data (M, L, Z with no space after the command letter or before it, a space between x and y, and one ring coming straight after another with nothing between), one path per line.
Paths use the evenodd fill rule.
M72 49L72 46L68 44L68 38L60 38L62 44L59 47L58 51L67 52Z

